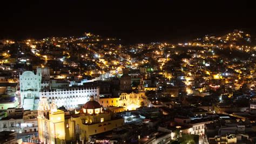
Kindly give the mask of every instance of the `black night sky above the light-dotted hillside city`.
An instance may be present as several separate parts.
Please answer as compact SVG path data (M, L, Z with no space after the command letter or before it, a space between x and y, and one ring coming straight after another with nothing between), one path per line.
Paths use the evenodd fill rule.
M87 31L126 42L174 42L233 29L256 33L254 0L8 1L0 7L0 39Z

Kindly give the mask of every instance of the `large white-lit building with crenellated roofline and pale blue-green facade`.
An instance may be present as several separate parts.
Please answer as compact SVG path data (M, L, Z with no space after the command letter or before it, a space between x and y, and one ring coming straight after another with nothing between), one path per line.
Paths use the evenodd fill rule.
M43 74L44 76L42 76ZM95 100L99 100L99 87L69 87L68 83L57 84L55 80L45 84L45 81L41 82L42 77L45 80L48 79L48 69L39 68L37 74L32 71L25 71L20 76L21 103L24 109L37 109L39 98L42 97L45 97L49 102L54 99L57 107L64 106L66 109L74 109L78 105L85 104L91 95Z

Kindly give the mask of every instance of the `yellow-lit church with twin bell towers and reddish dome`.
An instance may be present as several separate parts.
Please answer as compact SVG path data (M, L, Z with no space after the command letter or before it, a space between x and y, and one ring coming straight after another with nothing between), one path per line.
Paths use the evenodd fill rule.
M88 141L90 135L110 131L124 124L123 118L114 116L111 111L104 111L93 97L75 113L65 114L57 109L54 101L49 106L48 100L41 98L38 107L39 139L46 143Z

